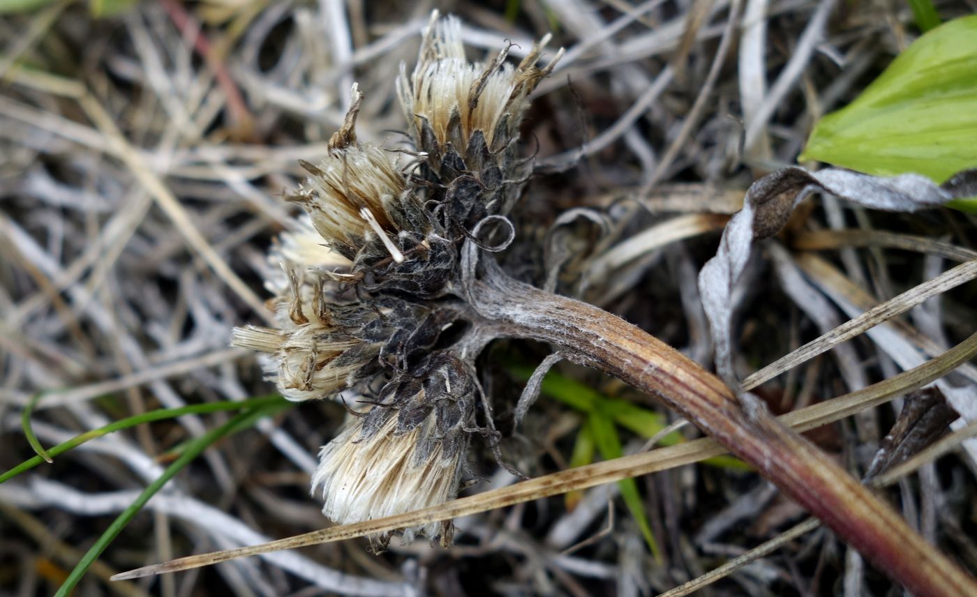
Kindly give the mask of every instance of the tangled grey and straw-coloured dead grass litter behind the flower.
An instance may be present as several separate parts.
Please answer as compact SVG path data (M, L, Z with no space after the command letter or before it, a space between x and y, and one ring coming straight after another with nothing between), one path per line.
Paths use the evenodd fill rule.
M705 590L897 590L830 533L807 525L781 535L803 512L730 458L458 519L447 549L395 539L373 556L358 539L178 576L107 577L326 524L309 474L343 408L260 399L271 386L252 355L228 348L230 330L268 317L262 286L275 265L266 250L295 210L281 198L303 176L298 160L325 151L353 82L365 96L362 139L382 143L403 129L394 79L416 55L431 9L465 21L473 58L505 39L520 56L547 31L551 50L567 48L527 118L538 174L518 235L560 264L542 283L708 366L714 349L696 279L719 231L750 182L795 163L814 123L934 24L932 5L911 4L9 3L0 18L0 470L34 455L25 429L50 448L160 408L180 416L51 450L53 464L0 485L0 590L51 594L127 508L131 522L80 593L654 594L775 537L770 556ZM975 7L935 10L949 20ZM972 266L975 223L946 209L891 214L809 199L784 235L754 251L728 297L732 366L748 382L955 262ZM754 392L786 412L939 356L977 328L977 286L965 283L975 275L970 267L905 317ZM525 343L495 347L493 401L514 403L545 354ZM972 396L975 380L977 368L964 364L941 390L950 399L969 386ZM861 477L903 403L927 400L939 398L862 409L810 437ZM647 405L613 379L558 365L503 455L535 477L651 439L696 437L691 426L659 433L672 417ZM174 480L132 509L168 467ZM490 453L475 453L470 467L468 493L516 481ZM974 472L957 450L888 490L971 572Z

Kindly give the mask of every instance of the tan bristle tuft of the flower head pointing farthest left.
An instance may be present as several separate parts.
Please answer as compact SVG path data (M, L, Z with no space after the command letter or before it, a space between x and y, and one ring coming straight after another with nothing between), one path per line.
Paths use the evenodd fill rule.
M379 343L337 332L319 320L289 330L235 327L231 344L265 353L261 362L268 379L291 401L327 398L356 385L380 353Z

